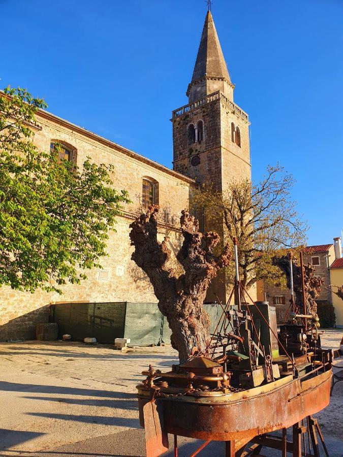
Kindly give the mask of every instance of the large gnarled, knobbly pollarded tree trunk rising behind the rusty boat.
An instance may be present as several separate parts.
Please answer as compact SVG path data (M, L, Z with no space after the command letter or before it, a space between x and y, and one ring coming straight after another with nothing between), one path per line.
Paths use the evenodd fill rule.
M130 225L131 244L135 246L132 259L151 281L159 309L172 331L171 344L183 363L189 359L193 347L199 351L207 347L210 320L203 307L206 291L217 271L228 265L231 252L226 245L222 255L214 256L219 235L198 232L198 221L188 211L182 211L183 243L176 258L184 273L178 275L167 265L171 256L168 238L162 243L157 240L158 213L158 206L150 206L146 214Z

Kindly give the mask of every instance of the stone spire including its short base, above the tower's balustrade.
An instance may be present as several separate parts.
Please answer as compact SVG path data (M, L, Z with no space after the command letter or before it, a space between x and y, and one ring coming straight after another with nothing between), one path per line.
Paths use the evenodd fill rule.
M209 83L214 80L222 81L222 84ZM212 14L207 11L192 81L187 90L190 103L216 90L226 93L224 82L232 86Z

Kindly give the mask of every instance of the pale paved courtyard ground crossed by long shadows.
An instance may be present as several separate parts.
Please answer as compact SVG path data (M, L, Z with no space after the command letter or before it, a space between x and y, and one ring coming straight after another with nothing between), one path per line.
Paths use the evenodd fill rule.
M336 349L341 337L326 331L322 344ZM164 369L177 354L170 346L121 353L73 342L0 343L0 455L144 455L135 385L151 362ZM343 366L342 358L335 364ZM343 455L342 411L338 383L330 406L317 414L330 457ZM190 455L198 443L180 444L179 455ZM211 446L201 455L222 453L221 443Z

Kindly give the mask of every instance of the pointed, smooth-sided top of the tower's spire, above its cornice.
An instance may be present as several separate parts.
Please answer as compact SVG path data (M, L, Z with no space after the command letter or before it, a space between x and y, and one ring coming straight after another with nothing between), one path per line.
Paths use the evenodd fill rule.
M204 76L225 78L231 82L210 11L208 11L206 15L192 82L197 81Z

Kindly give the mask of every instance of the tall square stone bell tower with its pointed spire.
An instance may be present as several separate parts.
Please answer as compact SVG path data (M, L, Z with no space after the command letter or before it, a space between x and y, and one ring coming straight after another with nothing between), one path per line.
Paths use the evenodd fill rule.
M251 179L249 119L233 101L232 84L211 12L202 31L188 105L173 111L173 169L225 193L233 181ZM206 226L223 237L223 224ZM223 238L222 238L223 239ZM212 282L206 301L226 303L231 286L225 272Z

